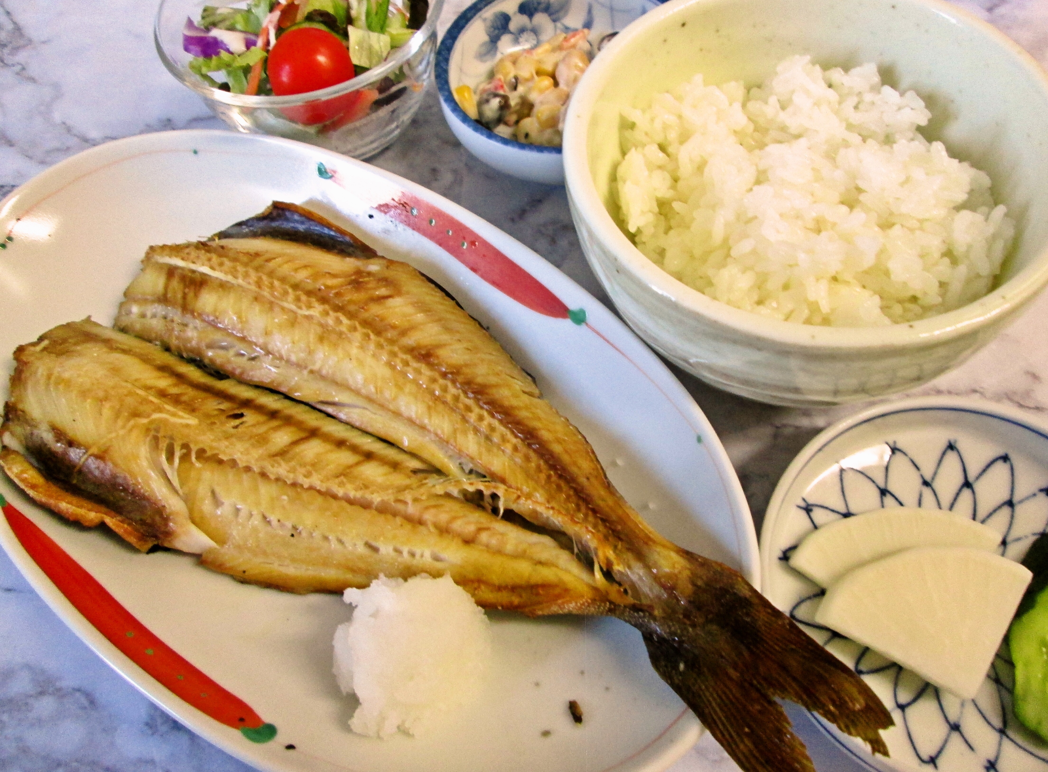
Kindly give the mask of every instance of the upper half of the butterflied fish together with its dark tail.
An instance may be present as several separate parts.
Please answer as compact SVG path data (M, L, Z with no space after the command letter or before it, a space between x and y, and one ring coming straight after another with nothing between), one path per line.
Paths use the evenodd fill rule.
M777 698L887 754L891 716L861 680L736 571L655 533L531 379L410 266L274 204L212 241L150 248L116 326L387 439L446 476L436 490L564 534L619 593L603 613L641 631L747 772L812 769Z

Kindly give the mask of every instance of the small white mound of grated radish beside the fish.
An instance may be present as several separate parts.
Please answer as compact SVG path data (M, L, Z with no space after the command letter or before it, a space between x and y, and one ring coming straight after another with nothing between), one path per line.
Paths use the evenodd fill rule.
M343 597L356 609L335 631L334 674L343 693L361 701L349 722L354 732L418 734L480 692L490 627L450 576L379 576Z

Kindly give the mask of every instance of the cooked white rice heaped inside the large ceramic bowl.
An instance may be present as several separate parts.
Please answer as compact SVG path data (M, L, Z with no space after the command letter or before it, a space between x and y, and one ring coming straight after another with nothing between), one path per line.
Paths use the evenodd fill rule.
M655 264L787 322L912 322L990 290L1013 234L990 180L917 133L872 64L782 62L747 94L698 74L624 111L620 223Z

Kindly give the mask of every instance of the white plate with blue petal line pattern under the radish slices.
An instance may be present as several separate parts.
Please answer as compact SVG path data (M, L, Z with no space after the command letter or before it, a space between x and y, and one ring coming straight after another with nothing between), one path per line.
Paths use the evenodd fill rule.
M824 591L787 560L824 525L893 506L948 509L996 528L1000 554L1021 560L1048 529L1048 429L1023 412L966 398L890 402L813 439L783 475L761 532L764 593L849 664L885 702L891 758L815 718L872 770L1048 770L1048 744L1011 711L1013 666L1002 646L974 700L960 700L814 622Z

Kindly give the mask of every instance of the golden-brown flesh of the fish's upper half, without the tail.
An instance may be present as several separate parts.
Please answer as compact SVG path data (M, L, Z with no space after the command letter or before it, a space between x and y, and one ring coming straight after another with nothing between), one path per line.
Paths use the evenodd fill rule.
M564 532L627 593L659 542L589 443L411 266L271 238L151 247L115 326L307 402ZM451 488L450 488L451 489ZM653 555L680 563L675 552Z

